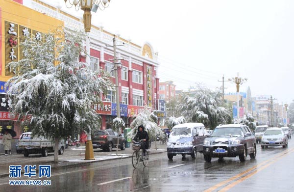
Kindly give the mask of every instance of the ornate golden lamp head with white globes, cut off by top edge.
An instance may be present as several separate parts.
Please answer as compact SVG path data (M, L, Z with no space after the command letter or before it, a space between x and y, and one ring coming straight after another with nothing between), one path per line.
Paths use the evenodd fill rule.
M84 28L86 32L91 30L91 11L96 12L99 8L104 10L109 6L110 0L64 0L66 7L72 8L73 5L75 10L79 9L84 11Z

